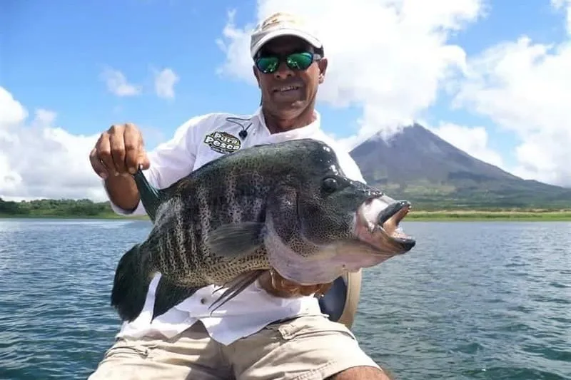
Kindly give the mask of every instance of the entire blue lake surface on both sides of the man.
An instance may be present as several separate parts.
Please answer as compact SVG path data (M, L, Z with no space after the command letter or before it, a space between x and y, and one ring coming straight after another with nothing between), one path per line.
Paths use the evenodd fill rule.
M148 222L0 220L0 379L86 379L113 271ZM354 331L397 379L571 379L571 223L406 222L364 273Z

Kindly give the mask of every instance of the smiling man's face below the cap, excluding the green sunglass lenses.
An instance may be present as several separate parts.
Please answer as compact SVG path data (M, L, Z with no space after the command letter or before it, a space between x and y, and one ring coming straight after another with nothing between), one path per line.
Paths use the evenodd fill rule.
M287 66L285 56L304 51L315 53L315 48L293 36L274 38L263 46L261 56L279 56L281 62L278 69L273 73L262 73L254 65L263 106L278 118L295 118L308 106L313 106L318 86L325 78L325 58L314 61L305 70L293 70Z

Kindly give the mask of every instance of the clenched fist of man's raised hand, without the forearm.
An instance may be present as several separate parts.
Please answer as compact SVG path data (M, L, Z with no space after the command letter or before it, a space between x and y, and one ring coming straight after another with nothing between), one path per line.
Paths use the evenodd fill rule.
M103 179L134 174L139 165L143 170L149 167L141 131L131 123L111 125L101 133L89 160L95 173Z

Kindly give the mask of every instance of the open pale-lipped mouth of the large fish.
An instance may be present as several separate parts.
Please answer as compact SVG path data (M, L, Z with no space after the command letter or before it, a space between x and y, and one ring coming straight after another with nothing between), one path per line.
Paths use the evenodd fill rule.
M404 232L400 222L411 208L408 200L392 200L387 196L369 198L357 210L355 235L385 254L408 252L416 240Z

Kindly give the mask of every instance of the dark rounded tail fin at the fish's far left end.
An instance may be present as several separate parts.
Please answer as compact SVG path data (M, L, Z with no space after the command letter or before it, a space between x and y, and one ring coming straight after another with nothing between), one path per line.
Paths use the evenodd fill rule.
M111 290L111 306L121 319L131 322L141 313L152 273L148 251L141 250L141 245L134 245L121 257Z

